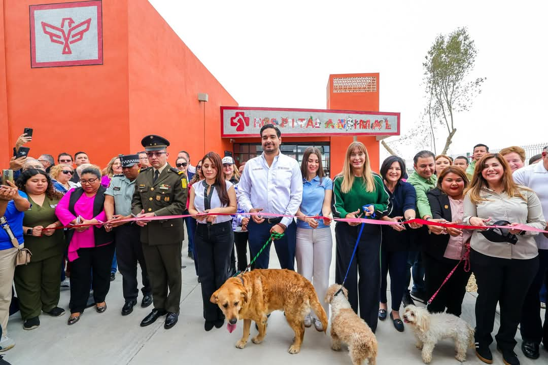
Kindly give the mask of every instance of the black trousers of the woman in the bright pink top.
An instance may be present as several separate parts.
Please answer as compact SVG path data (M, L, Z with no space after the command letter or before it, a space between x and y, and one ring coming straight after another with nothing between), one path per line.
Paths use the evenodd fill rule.
M80 248L78 258L71 263L70 303L71 313L81 313L88 302L89 288L93 288L95 303L105 301L110 289L110 269L114 256L114 244L92 248ZM91 273L91 275L90 275ZM93 276L93 281L92 281Z

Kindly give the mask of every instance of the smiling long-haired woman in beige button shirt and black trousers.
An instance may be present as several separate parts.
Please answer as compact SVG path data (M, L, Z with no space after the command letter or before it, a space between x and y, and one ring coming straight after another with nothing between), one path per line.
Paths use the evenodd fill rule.
M476 276L476 355L493 362L489 345L500 304L500 327L496 346L506 364L519 364L515 352L515 335L521 308L539 269L536 232L512 228L526 224L545 229L546 220L536 194L517 185L502 155L484 155L476 165L472 183L464 198L464 223L476 226L509 225L509 229L476 229L470 240L470 263Z

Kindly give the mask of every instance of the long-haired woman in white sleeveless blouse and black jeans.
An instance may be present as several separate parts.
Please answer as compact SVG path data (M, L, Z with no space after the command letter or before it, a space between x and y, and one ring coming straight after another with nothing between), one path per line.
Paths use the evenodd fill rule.
M204 156L200 165L204 179L190 189L189 214L197 222L194 235L198 252L198 277L202 283L204 329L221 328L225 322L217 304L209 299L228 278L230 253L234 245L232 217L236 213L236 192L232 183L225 180L221 158L215 152ZM199 216L199 213L209 213ZM215 215L225 213L227 215Z

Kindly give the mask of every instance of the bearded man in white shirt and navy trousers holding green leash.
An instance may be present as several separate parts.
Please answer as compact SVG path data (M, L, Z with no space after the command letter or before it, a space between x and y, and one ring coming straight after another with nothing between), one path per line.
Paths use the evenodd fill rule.
M247 161L238 183L238 202L244 211L293 216L302 199L302 174L299 163L279 151L281 132L273 124L261 128L263 153ZM294 270L296 224L290 217L252 216L249 220L249 251L259 252L272 232L284 233L274 241L282 269ZM270 245L259 255L254 269L269 267Z

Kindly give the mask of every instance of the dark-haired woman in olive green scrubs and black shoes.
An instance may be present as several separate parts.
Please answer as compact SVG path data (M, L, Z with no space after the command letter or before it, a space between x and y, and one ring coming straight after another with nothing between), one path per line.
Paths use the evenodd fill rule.
M58 306L65 236L62 229L51 229L61 226L55 206L62 194L53 189L50 177L42 170L24 171L17 186L31 203L23 218L23 234L32 258L27 265L17 266L14 276L23 329L30 330L40 325L42 311L54 317L65 313Z

